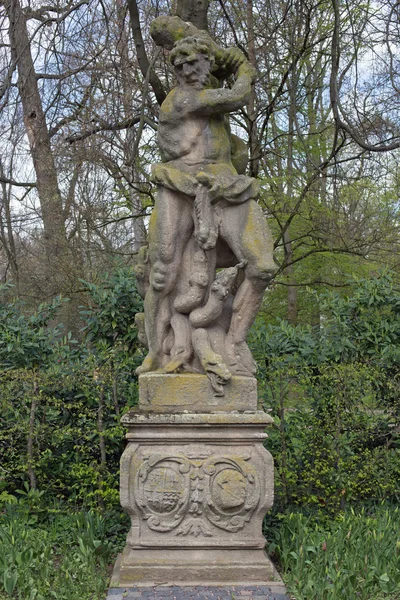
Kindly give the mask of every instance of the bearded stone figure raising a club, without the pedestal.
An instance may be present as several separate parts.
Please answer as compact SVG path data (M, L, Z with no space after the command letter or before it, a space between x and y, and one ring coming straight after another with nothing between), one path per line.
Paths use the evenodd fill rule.
M247 148L229 127L256 73L240 50L177 17L159 17L151 33L171 50L177 85L160 109L157 199L136 266L148 347L137 372L206 373L222 396L232 375L255 372L246 338L275 270Z

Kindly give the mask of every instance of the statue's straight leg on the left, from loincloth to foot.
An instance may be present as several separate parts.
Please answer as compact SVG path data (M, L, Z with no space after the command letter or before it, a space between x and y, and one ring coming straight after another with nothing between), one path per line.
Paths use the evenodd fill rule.
M193 231L190 198L159 186L149 226L150 286L144 306L149 353L137 374L162 366L163 341L170 329L171 298L184 247Z

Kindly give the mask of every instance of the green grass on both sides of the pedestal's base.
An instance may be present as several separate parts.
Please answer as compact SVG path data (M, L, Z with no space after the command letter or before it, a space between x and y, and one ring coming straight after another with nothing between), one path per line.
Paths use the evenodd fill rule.
M0 600L104 600L127 520L8 504L0 513ZM269 552L296 600L400 600L400 510L280 517Z

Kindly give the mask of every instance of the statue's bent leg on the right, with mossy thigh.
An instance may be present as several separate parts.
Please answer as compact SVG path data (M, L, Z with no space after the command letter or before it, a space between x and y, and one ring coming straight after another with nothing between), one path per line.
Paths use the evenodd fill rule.
M254 200L222 210L220 234L235 254L245 261L245 278L232 306L232 319L226 339L229 368L237 374L250 375L255 364L246 338L260 308L263 294L276 270L273 243L261 208Z

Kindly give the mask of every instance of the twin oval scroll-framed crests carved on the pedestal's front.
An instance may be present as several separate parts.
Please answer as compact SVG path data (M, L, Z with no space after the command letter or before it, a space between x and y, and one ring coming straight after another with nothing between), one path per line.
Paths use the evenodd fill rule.
M210 524L241 530L260 501L249 456L146 457L135 479L135 498L153 531L212 537Z

